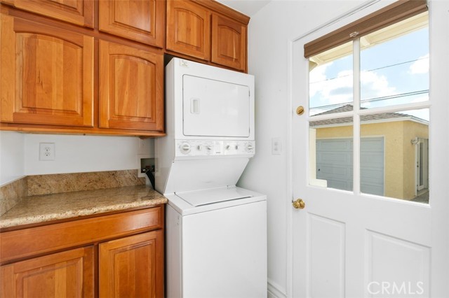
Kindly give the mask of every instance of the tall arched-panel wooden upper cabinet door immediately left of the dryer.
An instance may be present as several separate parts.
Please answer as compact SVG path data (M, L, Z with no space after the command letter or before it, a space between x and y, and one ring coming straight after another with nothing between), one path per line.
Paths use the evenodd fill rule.
M100 127L163 131L163 54L100 41Z

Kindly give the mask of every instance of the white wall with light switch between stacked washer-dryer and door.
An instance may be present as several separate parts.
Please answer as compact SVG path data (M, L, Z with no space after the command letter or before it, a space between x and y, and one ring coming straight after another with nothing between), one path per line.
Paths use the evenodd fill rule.
M290 229L287 219L292 208L288 168L292 117L288 98L288 42L362 3L274 0L250 20L248 72L255 75L257 149L239 185L267 194L268 278L273 297L291 295L288 289L290 274L287 272ZM272 155L272 139L275 137L281 139L281 155Z

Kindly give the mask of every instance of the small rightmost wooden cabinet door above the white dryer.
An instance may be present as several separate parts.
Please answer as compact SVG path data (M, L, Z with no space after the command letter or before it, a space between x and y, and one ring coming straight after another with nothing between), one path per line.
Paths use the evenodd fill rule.
M212 62L246 70L246 26L212 15Z

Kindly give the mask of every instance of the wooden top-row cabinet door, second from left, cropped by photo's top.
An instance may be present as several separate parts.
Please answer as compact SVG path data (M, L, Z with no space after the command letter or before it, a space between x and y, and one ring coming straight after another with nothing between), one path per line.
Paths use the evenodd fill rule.
M101 0L100 31L163 48L165 1Z

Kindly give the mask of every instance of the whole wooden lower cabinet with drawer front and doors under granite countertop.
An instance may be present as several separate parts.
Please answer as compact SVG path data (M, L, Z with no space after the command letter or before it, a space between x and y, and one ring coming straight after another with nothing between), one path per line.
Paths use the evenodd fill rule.
M164 206L0 233L0 298L164 295Z

